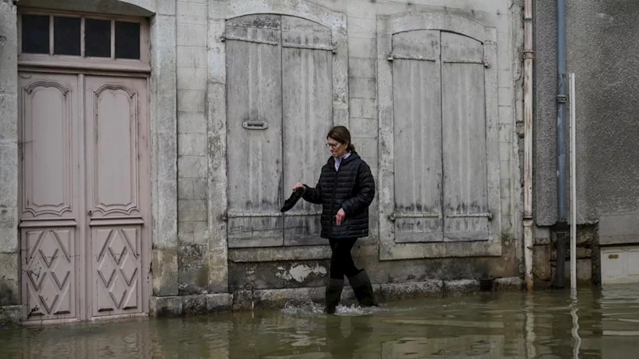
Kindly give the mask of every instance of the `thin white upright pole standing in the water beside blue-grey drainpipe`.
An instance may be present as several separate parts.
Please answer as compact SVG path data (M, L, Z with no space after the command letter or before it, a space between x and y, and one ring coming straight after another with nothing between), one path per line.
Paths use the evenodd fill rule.
M577 188L576 188L576 116L574 112L574 72L570 74L570 287L577 291Z

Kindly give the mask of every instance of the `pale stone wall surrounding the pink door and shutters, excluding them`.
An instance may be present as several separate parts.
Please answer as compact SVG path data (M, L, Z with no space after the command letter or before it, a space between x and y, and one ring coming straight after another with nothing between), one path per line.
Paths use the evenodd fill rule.
M42 5L42 1L38 1L25 0L25 3ZM422 288L440 291L445 287L442 280L449 281L449 287L464 287L464 283L455 281L521 275L521 153L517 134L521 122L521 1L130 0L119 3L114 0L108 6L106 3L109 2L99 1L88 6L83 2L82 8L75 10L151 14L152 19L152 311L187 312L194 308L224 307L230 298L225 293L237 293L236 297L242 298L240 291L248 291L244 293L250 292L249 297L253 298L252 291L256 290L323 286L330 257L328 246L229 250L226 224L220 220L226 209L227 183L226 57L219 35L224 31L226 19L257 12L306 17L334 26L339 36L343 36L344 49L338 50L340 56L348 54L344 61L348 63L348 79L341 94L343 98L337 101L343 102L343 109L339 111L348 113L353 142L376 178L379 169L377 16L407 11L436 12L495 29L497 61L491 66L497 69L498 83L495 123L500 206L496 215L501 225L497 243L491 243L491 254L477 254L482 253L477 251L481 243L468 243L468 247L460 243L455 256L444 253L442 256L431 254L427 259L380 261L378 199L371 206L371 235L358 241L353 253L357 264L368 268L376 284L422 282L427 283ZM70 4L66 8L73 8ZM0 50L0 110L3 114L0 121L0 167L3 169L0 173L0 183L3 183L0 256L6 256L0 257L0 286L16 289L4 291L15 294L0 305L19 303L15 17L16 7L0 0L0 36L6 38L0 37L0 46L4 43L4 49ZM468 248L468 252L464 248ZM408 289L397 289L405 290ZM281 295L308 294L298 291Z

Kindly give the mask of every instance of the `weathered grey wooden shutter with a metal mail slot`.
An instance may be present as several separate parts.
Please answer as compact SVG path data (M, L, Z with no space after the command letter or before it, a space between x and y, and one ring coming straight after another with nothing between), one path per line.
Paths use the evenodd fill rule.
M282 59L278 15L226 22L229 247L282 245Z

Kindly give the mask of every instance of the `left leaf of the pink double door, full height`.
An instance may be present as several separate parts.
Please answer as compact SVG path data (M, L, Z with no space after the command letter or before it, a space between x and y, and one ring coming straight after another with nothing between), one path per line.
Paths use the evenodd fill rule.
M20 73L20 238L26 320L77 319L78 82Z

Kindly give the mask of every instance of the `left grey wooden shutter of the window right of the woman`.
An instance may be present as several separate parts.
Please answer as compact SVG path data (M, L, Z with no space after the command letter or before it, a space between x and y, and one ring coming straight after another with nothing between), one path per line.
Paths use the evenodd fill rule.
M440 31L392 37L395 241L442 241Z

